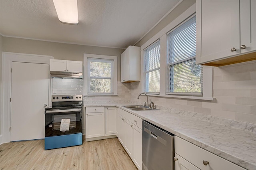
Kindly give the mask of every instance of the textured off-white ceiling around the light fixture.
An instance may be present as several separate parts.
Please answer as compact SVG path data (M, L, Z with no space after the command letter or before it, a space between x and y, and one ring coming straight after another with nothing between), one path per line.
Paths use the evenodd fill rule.
M0 0L0 34L83 45L134 45L179 0L78 0L78 25L62 24L52 0Z

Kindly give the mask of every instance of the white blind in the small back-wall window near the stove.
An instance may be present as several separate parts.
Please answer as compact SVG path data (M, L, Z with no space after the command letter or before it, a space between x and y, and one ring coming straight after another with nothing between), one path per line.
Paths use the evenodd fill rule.
M88 58L88 94L113 94L112 59Z

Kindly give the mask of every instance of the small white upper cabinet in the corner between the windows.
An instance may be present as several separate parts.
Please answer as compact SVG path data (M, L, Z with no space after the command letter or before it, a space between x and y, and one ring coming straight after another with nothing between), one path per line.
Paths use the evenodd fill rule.
M140 47L129 46L121 54L121 82L140 81Z

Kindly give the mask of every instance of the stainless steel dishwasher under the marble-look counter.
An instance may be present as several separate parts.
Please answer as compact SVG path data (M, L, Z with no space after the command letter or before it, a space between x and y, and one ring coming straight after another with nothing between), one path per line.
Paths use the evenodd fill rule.
M142 121L142 170L174 170L174 134Z

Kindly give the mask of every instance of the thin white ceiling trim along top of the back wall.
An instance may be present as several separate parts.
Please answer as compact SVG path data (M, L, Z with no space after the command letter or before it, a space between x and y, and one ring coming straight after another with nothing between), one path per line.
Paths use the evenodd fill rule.
M126 49L125 47L109 47L109 46L101 46L101 45L92 45L92 44L85 44L85 43L73 43L73 42L60 42L60 41L53 41L53 40L44 40L44 39L36 39L36 38L26 38L26 37L18 37L18 36L7 36L0 34L3 37L10 37L10 38L21 38L26 40L37 40L37 41L44 41L44 42L55 42L55 43L67 43L67 44L75 44L75 45L86 45L92 47L105 47L105 48L118 48L118 49Z

